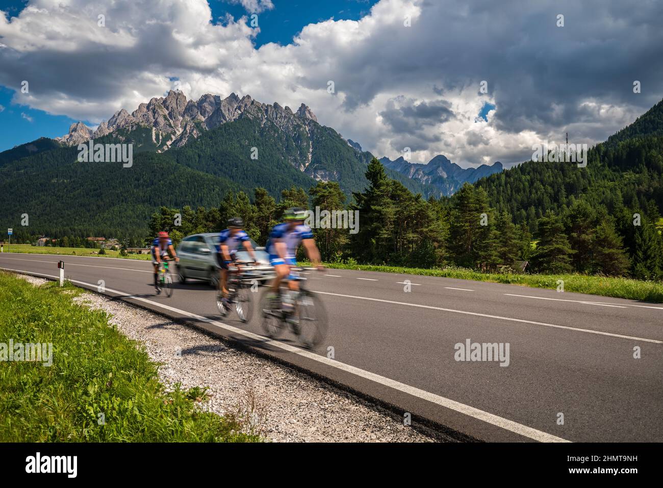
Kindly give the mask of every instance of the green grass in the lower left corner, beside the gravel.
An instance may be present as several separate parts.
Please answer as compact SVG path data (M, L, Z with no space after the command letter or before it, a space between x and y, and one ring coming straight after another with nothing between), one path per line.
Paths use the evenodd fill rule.
M237 418L196 408L204 388L168 392L145 349L80 289L0 272L0 343L52 343L52 366L0 361L0 442L246 442ZM99 424L103 414L103 424Z

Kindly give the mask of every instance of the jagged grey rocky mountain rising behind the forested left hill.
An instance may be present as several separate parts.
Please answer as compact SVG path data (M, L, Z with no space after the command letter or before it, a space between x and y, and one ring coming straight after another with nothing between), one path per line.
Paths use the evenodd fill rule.
M213 134L219 132L216 129L224 132L221 127L231 127L225 132L233 132L233 125L247 124L252 125L253 137L245 134L247 137L242 141L243 147L241 150L236 148L231 159L249 159L255 147L258 160L267 160L268 165L273 165L273 151L265 153L265 148L261 147L264 142L261 137L267 137L274 143L271 149L278 149L277 152L282 153L280 156L294 169L313 180L337 181L347 195L352 191L361 191L365 186L363 173L368 161L373 158L371 153L362 151L358 143L345 141L331 127L320 125L305 104L293 112L288 106L263 104L249 95L239 98L233 93L221 98L205 94L194 101L187 100L180 91L171 90L166 97L152 98L147 104L140 104L131 114L125 109L115 112L94 130L82 122L73 123L69 133L55 140L67 146L89 139L131 142L134 153L164 153L169 149L184 148L210 131ZM225 149L227 147L219 147L221 152ZM229 176L227 171L223 171L229 161L215 159L215 165L208 167L208 172ZM272 167L272 170L276 168ZM437 189L431 185L408 179L396 171L390 171L389 176L401 181L410 191L422 193L425 197L439 196Z

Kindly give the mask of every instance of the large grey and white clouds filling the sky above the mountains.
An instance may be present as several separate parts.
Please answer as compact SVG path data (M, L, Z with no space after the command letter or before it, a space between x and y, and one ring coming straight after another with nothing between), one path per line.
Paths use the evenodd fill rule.
M378 157L410 147L416 161L509 164L566 131L601 141L658 102L662 24L656 2L381 0L357 21L313 23L286 46L257 49L257 29L245 18L213 23L204 0L33 0L18 17L0 15L0 84L17 90L15 103L99 123L178 79L190 98L304 102ZM477 121L485 103L496 108Z

